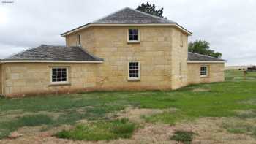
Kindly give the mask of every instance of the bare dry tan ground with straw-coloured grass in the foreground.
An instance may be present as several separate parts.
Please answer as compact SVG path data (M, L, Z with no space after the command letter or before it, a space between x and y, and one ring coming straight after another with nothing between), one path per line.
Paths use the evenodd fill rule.
M187 130L195 132L193 142L195 144L256 144L254 138L246 134L231 134L227 132L227 129L222 127L223 121L234 121L232 118L199 118L196 121L189 123L180 123L176 126L170 126L168 124L148 124L143 122L141 115L152 115L155 113L162 113L163 110L150 110L150 109L127 109L121 113L112 114L116 118L129 118L131 121L140 122L140 129L137 129L131 139L119 139L111 141L74 141L63 140L53 137L52 135L61 129L70 129L70 126L61 126L42 132L42 126L37 127L23 127L17 132L23 134L22 137L17 139L4 139L0 140L1 144L42 144L42 143L58 143L58 144L132 144L132 143L177 143L170 140L170 136L176 130Z

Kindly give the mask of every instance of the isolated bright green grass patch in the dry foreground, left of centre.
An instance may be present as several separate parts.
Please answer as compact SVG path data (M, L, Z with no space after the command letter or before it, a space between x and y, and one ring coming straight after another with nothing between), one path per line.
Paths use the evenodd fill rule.
M61 131L56 134L56 137L72 140L114 140L132 137L136 127L128 119L97 121L79 124L75 129L69 131Z

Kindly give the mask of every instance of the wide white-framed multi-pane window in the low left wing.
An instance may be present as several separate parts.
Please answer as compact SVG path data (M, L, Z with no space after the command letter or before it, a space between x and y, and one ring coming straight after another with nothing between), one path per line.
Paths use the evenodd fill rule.
M67 67L52 67L51 68L51 83L67 83L68 69Z

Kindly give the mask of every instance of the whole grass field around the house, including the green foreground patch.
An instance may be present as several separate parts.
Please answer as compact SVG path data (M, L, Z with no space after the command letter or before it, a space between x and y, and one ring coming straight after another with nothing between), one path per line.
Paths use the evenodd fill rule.
M141 124L134 124L129 120L121 123L121 120L113 120L109 117L110 113L118 113L127 107L163 110L163 113L141 116L146 123L151 124L175 125L177 122L194 121L205 117L255 118L256 72L249 72L244 79L240 71L226 71L225 79L226 81L222 83L192 85L176 91L102 91L22 99L1 98L0 138L7 137L10 132L23 126L48 126L48 129L51 129L62 125L76 127L56 134L61 138L75 140L129 138ZM250 113L238 113L239 111ZM89 124L80 125L78 121L84 119L89 121ZM84 130L89 125L96 126L91 130L94 135L89 135ZM127 129L120 128L118 132L120 136L113 132L117 125L123 128L129 126ZM246 126L236 129L232 126L232 124L223 124L223 127L230 132L256 136L254 125L251 125L250 129L246 129ZM100 133L105 131L104 129L108 129L106 134L109 136ZM75 136L79 134L80 136ZM95 137L97 134L101 137Z

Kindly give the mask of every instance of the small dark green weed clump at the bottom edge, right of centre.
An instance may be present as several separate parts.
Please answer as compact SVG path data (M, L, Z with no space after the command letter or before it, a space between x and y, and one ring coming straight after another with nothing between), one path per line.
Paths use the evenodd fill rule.
M190 144L192 142L192 136L194 132L187 132L187 131L176 131L170 140L176 140L178 142L183 142L185 144Z

